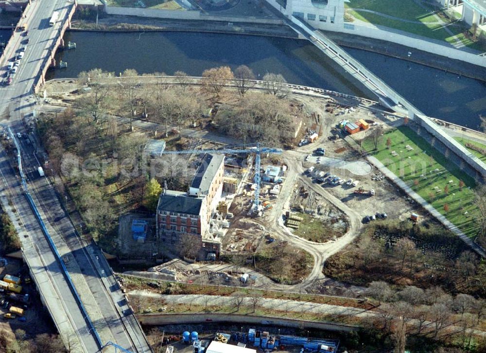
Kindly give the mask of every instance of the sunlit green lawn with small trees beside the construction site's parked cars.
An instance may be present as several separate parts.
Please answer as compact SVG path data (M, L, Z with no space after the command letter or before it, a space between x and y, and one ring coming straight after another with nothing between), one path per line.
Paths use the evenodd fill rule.
M386 146L388 139L391 141L389 149ZM413 150L408 151L406 145ZM365 140L363 146L466 235L476 236L477 225L474 219L477 212L471 190L475 182L457 165L448 161L446 156L407 126L385 133L377 151L374 151L373 142L370 140ZM393 156L392 151L398 156ZM462 190L459 187L460 180L465 183ZM446 185L449 188L448 193L445 192ZM448 212L444 210L445 204L449 206Z

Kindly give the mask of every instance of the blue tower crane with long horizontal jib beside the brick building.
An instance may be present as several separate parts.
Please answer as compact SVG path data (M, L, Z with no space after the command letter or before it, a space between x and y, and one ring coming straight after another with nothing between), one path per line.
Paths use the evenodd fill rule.
M193 153L219 153L219 154L255 154L255 199L253 208L258 212L258 206L260 205L260 154L261 153L282 153L280 148L260 147L259 143L248 145L234 145L226 146L221 149L203 149L203 150L182 150L182 151L164 151L164 154L193 154Z

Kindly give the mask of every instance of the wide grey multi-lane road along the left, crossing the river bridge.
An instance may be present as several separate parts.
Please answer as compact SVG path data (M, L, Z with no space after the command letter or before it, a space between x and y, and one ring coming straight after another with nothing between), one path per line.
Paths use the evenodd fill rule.
M114 342L130 352L150 352L141 327L100 249L80 238L49 180L39 176L37 167L42 161L37 159L37 155L42 154L42 148L36 144L34 133L24 120L32 113L36 102L34 85L44 64L51 60L55 40L72 6L73 2L67 0L33 0L27 6L24 12L26 18L20 23L28 24L28 35L15 32L0 58L0 82L6 83L7 77L12 77L10 85L0 87L0 121L23 136L17 141L30 194L102 342ZM59 20L50 26L49 19L54 11L60 13ZM27 38L29 43L26 43ZM25 48L24 56L20 59L17 72L11 75L7 65L15 60L21 48ZM15 158L9 158L4 151L0 151L0 186L3 181L0 197L6 201L2 202L4 208L8 207L10 201L17 210L12 216L18 218L16 228L19 234L27 234L26 237L21 236L22 246L25 254L29 254L28 262L35 281L37 284L40 281L44 283L39 285L39 291L46 298L48 308L52 309L51 314L64 342L76 341L79 351L97 352L101 347L95 340L93 330L87 325L87 317L76 303L75 294L69 288L61 266L56 262L35 213L24 196L18 172L11 168L13 162ZM111 351L114 348L104 350Z

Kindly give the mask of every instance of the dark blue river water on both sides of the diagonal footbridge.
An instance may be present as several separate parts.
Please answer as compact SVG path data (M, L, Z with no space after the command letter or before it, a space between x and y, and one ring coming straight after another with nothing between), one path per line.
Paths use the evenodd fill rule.
M125 69L167 74L180 70L199 76L208 68L245 64L259 78L266 72L281 73L289 83L367 96L304 40L185 32L69 32L65 40L76 42L77 49L58 52L57 62L68 62L68 68L49 71L48 78L76 77L93 68L117 74ZM479 115L486 115L484 82L377 53L346 50L429 116L478 128Z

